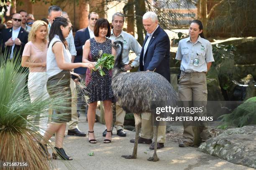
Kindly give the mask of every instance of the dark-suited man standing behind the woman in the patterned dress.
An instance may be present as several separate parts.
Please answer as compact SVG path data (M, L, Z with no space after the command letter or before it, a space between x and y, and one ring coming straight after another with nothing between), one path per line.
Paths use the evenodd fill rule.
M78 30L76 32L76 35L74 37L74 44L77 50L77 56L74 59L74 62L82 62L83 57L83 48L85 41L94 37L94 26L99 18L99 15L95 12L92 12L88 15L89 18L89 25L87 28L83 28L81 30ZM74 72L77 73L81 77L81 81L85 82L85 73L86 68L84 67L78 67L74 69ZM77 93L77 114L80 115L82 104L86 104L82 100L82 92ZM85 114L87 115L87 109L85 111Z

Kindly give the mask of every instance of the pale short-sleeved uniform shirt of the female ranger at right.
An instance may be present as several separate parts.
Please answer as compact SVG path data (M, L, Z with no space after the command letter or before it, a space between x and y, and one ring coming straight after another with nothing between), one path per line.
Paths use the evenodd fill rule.
M194 60L199 60L198 66L194 65ZM195 43L190 37L179 41L176 60L181 60L180 70L184 72L207 72L207 62L214 62L212 55L212 45L210 41L200 37Z

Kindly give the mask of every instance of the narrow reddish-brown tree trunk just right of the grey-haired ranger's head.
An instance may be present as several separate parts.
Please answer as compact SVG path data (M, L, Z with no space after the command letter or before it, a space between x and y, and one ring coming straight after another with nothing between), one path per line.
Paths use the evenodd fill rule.
M134 36L134 0L128 0L127 32Z

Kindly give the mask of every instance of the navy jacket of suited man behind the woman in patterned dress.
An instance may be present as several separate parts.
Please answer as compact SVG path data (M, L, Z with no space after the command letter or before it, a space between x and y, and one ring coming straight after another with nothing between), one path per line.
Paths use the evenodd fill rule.
M74 59L74 62L82 62L83 57L83 45L86 40L90 39L90 33L88 28L83 28L81 30L78 30L76 32L76 35L74 37L74 44L77 50L77 56ZM74 69L74 72L78 74L84 74L86 72L85 67L78 67Z

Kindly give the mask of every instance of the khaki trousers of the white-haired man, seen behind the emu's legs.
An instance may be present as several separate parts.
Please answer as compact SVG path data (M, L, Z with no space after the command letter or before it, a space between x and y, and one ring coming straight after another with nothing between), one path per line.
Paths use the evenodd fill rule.
M164 125L158 127L158 134L157 134L157 142L158 143L165 143L165 130L166 130L166 122ZM151 120L151 113L142 113L141 114L141 138L146 139L153 139L154 137L154 130Z

